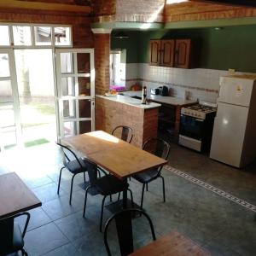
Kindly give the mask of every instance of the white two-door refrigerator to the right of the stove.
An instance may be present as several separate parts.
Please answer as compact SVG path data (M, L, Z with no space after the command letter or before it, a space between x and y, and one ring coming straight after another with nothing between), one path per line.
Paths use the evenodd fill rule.
M235 167L256 156L256 76L220 78L210 158Z

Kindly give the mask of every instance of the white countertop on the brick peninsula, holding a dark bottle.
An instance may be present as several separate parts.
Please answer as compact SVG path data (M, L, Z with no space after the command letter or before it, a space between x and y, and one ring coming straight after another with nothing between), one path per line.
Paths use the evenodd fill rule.
M142 95L142 92L140 92L140 95ZM113 101L113 102L120 102L123 104L127 104L130 106L134 106L137 108L144 108L144 109L148 109L148 108L159 108L161 105L159 103L154 103L154 102L148 102L147 104L142 104L141 100L138 99L134 99L131 98L131 96L137 96L137 95L127 95L127 96L122 96L122 95L117 95L117 96L99 96L103 99L109 100L109 101Z

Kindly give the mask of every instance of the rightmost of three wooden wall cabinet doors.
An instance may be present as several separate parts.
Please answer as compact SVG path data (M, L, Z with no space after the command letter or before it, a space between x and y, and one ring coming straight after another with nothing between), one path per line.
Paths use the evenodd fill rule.
M174 67L189 68L190 45L190 39L176 40Z

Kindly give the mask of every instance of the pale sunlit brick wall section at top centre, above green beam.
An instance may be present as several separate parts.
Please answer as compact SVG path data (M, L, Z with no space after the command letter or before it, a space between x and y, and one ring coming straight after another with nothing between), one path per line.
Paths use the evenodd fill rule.
M117 21L162 22L165 0L116 0Z

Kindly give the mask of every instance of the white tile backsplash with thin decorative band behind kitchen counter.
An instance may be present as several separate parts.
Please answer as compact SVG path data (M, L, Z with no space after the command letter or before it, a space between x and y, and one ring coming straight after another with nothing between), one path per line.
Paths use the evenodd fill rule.
M228 75L228 71L193 68L149 66L146 63L130 63L126 65L126 88L139 82L148 90L166 85L172 96L183 97L189 91L191 99L216 102L219 89L219 77Z

